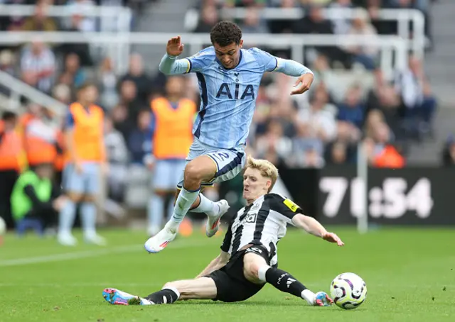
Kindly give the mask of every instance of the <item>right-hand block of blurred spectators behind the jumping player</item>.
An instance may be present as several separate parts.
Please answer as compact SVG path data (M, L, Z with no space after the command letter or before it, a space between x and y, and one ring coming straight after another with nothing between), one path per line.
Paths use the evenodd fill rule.
M425 33L431 42L429 0L203 0L187 15L186 26L206 33L229 17L224 9L246 9L235 19L244 33L305 33L334 35L387 35L397 33L396 21L383 21L378 9L418 9L426 17ZM261 9L301 8L300 19L265 19ZM363 8L353 20L326 18L323 9ZM196 12L196 15L195 15ZM362 14L363 13L363 14ZM194 17L197 17L195 20ZM412 28L412 26L411 26ZM269 50L290 58L287 50ZM385 77L378 68L380 50L368 46L306 45L305 65L316 72L316 84L303 99L289 99L287 77L264 77L250 135L250 148L287 167L323 167L355 162L360 141L372 165L402 167L411 140L432 135L437 101L422 62L410 55L405 72ZM350 77L346 89L338 82ZM338 73L337 73L338 72ZM337 77L338 75L338 77ZM354 80L352 80L354 79ZM368 82L372 80L372 82Z

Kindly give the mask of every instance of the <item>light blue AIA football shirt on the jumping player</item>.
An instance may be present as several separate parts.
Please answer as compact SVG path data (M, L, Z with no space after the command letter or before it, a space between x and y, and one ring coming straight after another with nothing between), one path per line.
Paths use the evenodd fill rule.
M181 60L166 54L160 70L165 74L196 72L200 108L193 135L202 143L223 149L246 144L264 72L284 72L294 77L312 73L298 62L283 60L258 48L241 49L238 65L226 70L213 46Z

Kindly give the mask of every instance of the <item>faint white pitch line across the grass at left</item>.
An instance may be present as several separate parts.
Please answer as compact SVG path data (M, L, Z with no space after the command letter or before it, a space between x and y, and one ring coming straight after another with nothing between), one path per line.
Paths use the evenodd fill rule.
M202 243L182 243L178 245L171 245L169 250L176 249L176 248L188 248L193 246L200 246L203 245ZM84 252L65 252L63 254L55 254L55 255L45 255L45 256L36 256L36 257L24 257L24 258L17 258L14 260L4 260L0 262L0 267L11 267L11 266L22 266L22 265L30 265L30 264L38 264L41 262L62 262L65 260L79 260L81 258L88 258L88 257L97 257L109 254L118 254L122 252L134 252L134 251L143 251L144 245L127 245L127 246L119 246L115 248L110 248L106 250L87 250ZM168 250L168 251L169 251Z

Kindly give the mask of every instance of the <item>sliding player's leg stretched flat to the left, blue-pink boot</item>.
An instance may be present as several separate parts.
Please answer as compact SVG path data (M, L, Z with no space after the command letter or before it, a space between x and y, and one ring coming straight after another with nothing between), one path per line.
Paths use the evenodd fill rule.
M186 299L215 299L216 295L217 288L210 277L166 283L161 290L146 297L135 296L119 289L105 289L102 292L106 301L117 305L173 304Z

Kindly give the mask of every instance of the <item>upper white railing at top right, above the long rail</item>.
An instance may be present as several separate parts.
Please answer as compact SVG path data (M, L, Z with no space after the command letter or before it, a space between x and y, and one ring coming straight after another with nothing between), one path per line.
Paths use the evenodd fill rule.
M259 9L261 18L282 19L282 20L297 20L306 16L306 11L299 8L264 8ZM245 8L225 8L221 11L223 18L245 18L247 9ZM323 9L323 15L326 18L336 19L352 19L356 16L364 16L368 12L363 8L327 8ZM196 28L198 23L199 13L196 9L188 10L185 17L186 30ZM414 55L424 57L425 47L425 18L421 11L417 9L379 9L378 19L382 21L397 21L397 35L407 40L407 48L412 50ZM411 37L410 22L413 25Z

